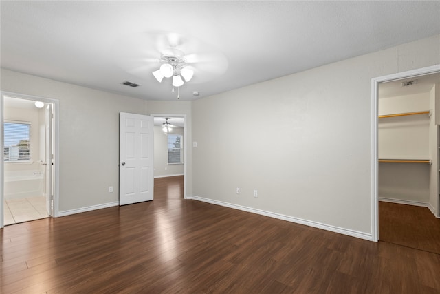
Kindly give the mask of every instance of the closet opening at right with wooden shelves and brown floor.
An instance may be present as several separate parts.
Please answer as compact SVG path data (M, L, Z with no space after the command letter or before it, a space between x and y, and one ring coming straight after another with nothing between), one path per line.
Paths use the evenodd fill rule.
M440 70L378 84L379 240L440 254Z

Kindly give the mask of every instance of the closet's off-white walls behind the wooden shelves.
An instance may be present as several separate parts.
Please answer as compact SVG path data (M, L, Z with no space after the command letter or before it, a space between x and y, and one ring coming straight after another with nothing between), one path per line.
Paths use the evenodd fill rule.
M432 110L431 116L419 114L380 118L378 126L380 159L435 161L437 135L435 134L434 97L431 96L429 92L426 92L379 99L380 115ZM381 162L379 164L379 198L427 206L431 191L437 191L437 182L432 182L431 179L431 176L436 174L433 166L428 164Z

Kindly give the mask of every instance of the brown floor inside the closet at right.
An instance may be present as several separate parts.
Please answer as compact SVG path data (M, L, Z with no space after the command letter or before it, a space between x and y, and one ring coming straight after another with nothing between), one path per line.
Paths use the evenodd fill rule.
M379 202L379 239L440 254L440 219L427 207Z

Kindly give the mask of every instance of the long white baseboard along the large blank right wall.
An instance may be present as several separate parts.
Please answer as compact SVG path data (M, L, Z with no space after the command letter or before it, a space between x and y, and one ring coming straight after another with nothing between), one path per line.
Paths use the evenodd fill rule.
M228 202L212 200L209 198L203 198L203 197L199 197L199 196L186 196L186 199L192 199L192 200L207 202L210 204L216 204L216 205L220 205L223 207L229 207L232 209L238 209L241 211L247 211L250 213L260 214L261 216L269 216L270 218L278 218L279 220L287 220L287 222L295 222L296 224L304 224L309 227L315 227L318 229L324 229L326 231L332 231L334 233L341 233L343 235L349 235L351 237L373 241L373 235L371 235L369 233L362 233L360 231L354 231L354 230L350 230L350 229L335 227L335 226L331 226L329 224L322 224L320 222L314 222L311 220L303 220L302 218L295 218L293 216L285 216L280 213L264 211L261 209L254 209L252 207L245 207L245 206L238 205L238 204L232 204L232 203L228 203Z

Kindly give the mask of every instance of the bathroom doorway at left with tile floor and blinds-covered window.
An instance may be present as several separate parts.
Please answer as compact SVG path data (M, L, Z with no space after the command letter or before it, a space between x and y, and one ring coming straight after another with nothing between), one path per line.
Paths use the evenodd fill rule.
M1 93L1 227L55 216L58 101Z

